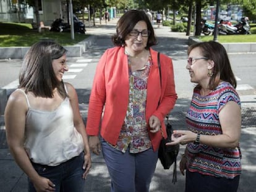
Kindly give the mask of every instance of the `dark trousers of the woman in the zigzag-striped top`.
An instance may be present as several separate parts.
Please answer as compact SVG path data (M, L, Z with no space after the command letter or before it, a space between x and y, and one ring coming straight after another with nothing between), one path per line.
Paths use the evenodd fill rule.
M231 179L203 175L187 170L185 192L236 192L239 185L239 178L239 175Z

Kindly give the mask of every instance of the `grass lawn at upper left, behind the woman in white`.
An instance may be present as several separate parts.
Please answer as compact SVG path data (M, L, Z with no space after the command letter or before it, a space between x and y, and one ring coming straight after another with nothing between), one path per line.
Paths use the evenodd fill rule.
M71 40L70 33L59 33L53 31L38 31L32 29L30 23L1 23L0 22L0 47L32 46L41 39L55 40L62 46L74 45L85 40L89 35L75 33Z

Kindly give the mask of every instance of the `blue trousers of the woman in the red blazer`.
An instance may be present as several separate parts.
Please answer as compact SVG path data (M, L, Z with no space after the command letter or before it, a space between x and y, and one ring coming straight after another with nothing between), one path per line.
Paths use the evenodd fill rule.
M139 153L122 153L101 139L103 157L111 178L111 192L148 192L158 161L152 148Z

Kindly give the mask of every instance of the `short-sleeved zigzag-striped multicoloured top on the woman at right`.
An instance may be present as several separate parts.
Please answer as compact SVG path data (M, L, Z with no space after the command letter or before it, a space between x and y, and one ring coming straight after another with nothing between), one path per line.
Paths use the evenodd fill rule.
M188 129L202 135L222 134L219 113L228 101L241 106L239 96L228 82L222 82L207 96L194 89L186 115ZM187 144L187 168L203 175L234 178L241 174L241 151L237 148L215 148L206 144Z

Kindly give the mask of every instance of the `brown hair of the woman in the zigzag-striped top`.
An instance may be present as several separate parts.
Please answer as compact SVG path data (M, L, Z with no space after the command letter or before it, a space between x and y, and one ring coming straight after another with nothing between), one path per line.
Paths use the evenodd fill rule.
M224 46L216 41L207 41L195 43L189 46L188 54L194 48L199 48L202 51L202 56L207 57L214 62L213 76L209 81L209 88L211 90L218 86L220 80L228 81L234 88L236 88L236 78L231 69L231 64L228 58L228 54Z

